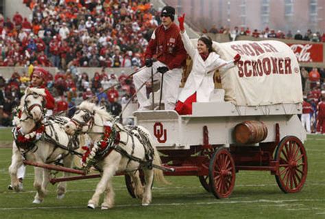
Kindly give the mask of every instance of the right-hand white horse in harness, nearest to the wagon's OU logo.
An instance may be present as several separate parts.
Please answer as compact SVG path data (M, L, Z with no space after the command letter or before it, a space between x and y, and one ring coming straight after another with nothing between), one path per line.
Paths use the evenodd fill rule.
M64 128L69 135L75 132L88 133L95 142L88 152L89 162L101 171L101 180L97 184L95 194L88 201L88 207L95 209L98 206L99 196L106 192L101 209L109 209L114 205L112 176L116 172L125 172L134 181L135 194L142 197L142 205L149 205L152 201L152 182L155 176L157 181L168 183L161 170L152 168L152 164L161 165L156 147L152 143L149 132L140 126L122 126L115 123L114 118L105 108L100 108L90 102L82 102L79 110L65 124ZM145 175L145 186L141 185L139 171Z

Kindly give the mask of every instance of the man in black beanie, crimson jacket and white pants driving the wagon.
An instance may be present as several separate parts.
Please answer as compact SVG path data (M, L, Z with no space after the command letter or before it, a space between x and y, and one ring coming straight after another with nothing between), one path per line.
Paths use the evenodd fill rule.
M173 23L175 8L165 6L160 14L162 25L152 34L145 51L145 68L134 75L134 85L139 90L141 85L154 73L165 74L163 77L163 100L165 109L173 110L178 97L178 87L182 79L182 66L185 63L186 51L180 38L180 29ZM153 62L153 58L156 62ZM154 75L154 80L161 80L160 74ZM145 86L137 93L139 110L149 110L151 103L147 99Z

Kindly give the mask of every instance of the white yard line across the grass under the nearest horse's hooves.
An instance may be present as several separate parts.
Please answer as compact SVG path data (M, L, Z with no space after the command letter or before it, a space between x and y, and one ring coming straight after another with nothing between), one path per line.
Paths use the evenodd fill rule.
M242 204L242 203L293 203L293 202L324 202L325 199L288 199L288 200L232 200L232 201L217 201L217 202L207 202L207 203L160 203L151 204L151 206L180 206L180 205L225 205L225 204ZM117 205L115 207L137 207L137 205ZM34 210L34 209L84 209L84 206L57 206L57 207L1 207L0 211L8 210Z

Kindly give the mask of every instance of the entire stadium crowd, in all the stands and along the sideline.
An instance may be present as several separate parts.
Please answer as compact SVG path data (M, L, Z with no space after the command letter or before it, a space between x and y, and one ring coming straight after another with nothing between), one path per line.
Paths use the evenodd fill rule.
M12 21L0 15L0 66L58 67L55 76L47 75L47 87L56 98L55 113L64 111L73 115L71 106L92 98L106 106L113 115L119 115L121 104L134 94L132 78L124 73L117 77L106 73L106 67L142 67L143 53L153 30L160 24L159 12L149 1L23 1L32 10L32 22L16 12ZM325 42L325 34L308 30L304 36L297 31L250 31L234 27L231 32L212 27L204 30L213 34L249 35L263 38L294 38L297 40ZM102 71L89 78L76 67L101 67ZM29 86L32 70L22 75L12 73L9 80L0 76L0 126L11 126L15 106L22 92ZM317 126L317 115L325 109L324 69L302 68L304 112L309 114L308 132L325 132ZM116 88L112 84L120 82ZM102 92L104 91L104 92ZM324 122L325 124L325 122ZM310 126L309 126L310 125Z

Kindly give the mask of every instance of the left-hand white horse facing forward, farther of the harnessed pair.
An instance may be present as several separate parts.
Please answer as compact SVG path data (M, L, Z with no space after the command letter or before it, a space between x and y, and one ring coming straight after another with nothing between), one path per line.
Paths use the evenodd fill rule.
M23 159L38 163L55 163L71 168L73 164L73 149L77 148L74 140L64 132L63 125L69 122L67 117L51 117L44 119L45 110L44 89L27 88L21 98L19 115L14 117L14 143L12 148L12 163L9 167L11 185L19 192L17 170L23 165ZM76 141L77 142L77 141ZM34 187L36 196L33 203L39 204L45 198L49 183L50 171L34 168ZM64 172L64 176L69 173ZM58 198L63 198L67 183L58 184Z

